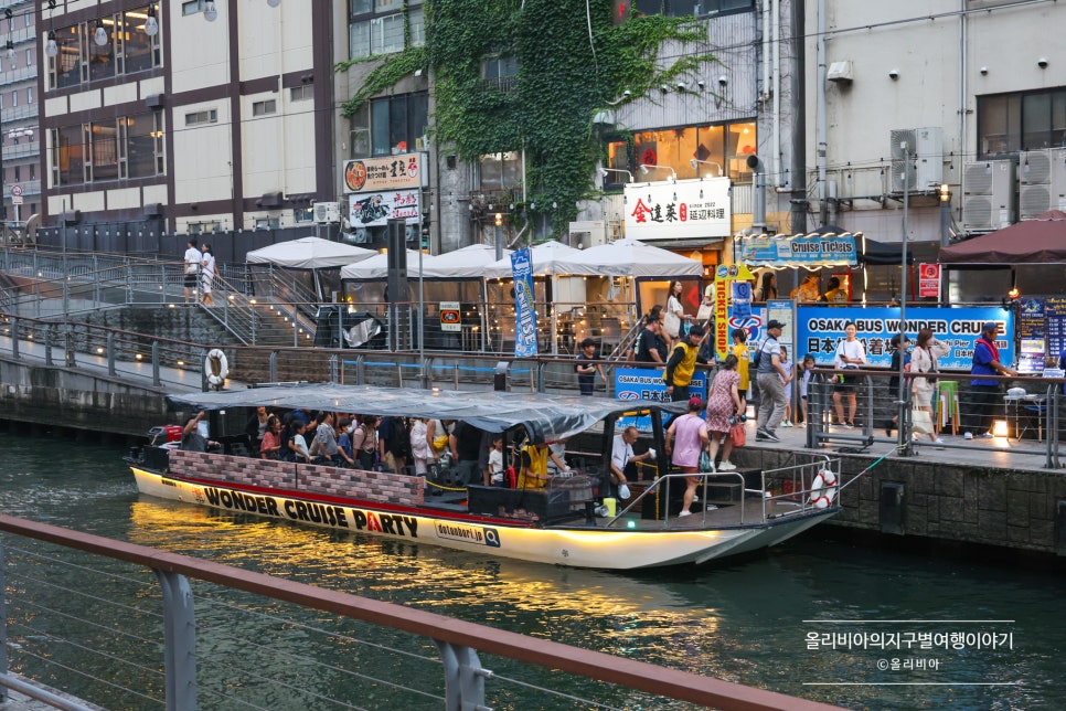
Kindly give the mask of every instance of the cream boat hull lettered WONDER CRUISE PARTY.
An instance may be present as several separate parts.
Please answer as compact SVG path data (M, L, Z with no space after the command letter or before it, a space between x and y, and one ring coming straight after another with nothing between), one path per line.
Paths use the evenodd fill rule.
M757 524L636 529L597 524L536 526L509 519L448 513L299 491L198 481L131 464L141 494L303 526L366 533L415 543L555 565L638 570L699 564L785 541L833 516L839 508ZM696 519L693 516L690 519ZM616 524L617 526L617 524Z

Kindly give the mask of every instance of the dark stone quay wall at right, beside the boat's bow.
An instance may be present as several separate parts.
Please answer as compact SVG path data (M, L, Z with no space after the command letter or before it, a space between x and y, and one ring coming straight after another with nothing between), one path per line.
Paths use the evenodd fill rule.
M803 457L802 453L795 455ZM832 455L838 456L838 455ZM738 466L772 469L796 464L792 453L744 447ZM846 484L876 457L843 455ZM1066 554L1060 505L1066 477L1055 471L947 465L920 457L885 459L848 486L838 526L882 533Z

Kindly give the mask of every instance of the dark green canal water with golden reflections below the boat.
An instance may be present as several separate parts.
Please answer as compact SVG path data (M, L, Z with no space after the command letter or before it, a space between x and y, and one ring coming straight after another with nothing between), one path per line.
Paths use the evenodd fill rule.
M846 708L1062 708L1057 571L853 545L830 527L715 567L569 570L141 497L116 447L0 434L0 510L11 516Z

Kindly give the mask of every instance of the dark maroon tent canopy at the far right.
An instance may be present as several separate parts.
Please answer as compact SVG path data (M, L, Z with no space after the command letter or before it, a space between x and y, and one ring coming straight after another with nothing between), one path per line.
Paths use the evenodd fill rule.
M1032 220L940 250L944 264L1066 263L1066 213L1048 210Z

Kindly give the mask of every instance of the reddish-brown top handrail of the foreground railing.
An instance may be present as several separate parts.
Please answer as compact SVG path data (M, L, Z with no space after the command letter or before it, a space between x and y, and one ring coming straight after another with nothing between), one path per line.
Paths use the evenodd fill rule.
M774 691L743 687L721 679L701 677L679 669L658 667L599 651L578 649L546 639L454 619L405 605L383 603L350 593L331 591L7 514L0 514L0 531L145 565L156 571L161 577L186 576L202 580L271 599L399 629L414 635L428 636L438 644L444 643L455 647L481 650L548 669L565 669L569 673L589 679L621 685L705 707L753 710L810 709L812 711L833 708L814 701L795 699ZM172 640L169 644L172 644ZM167 673L168 681L170 681L170 675L174 671L169 666ZM491 678L491 672L481 672L477 676ZM168 686L170 685L168 683ZM459 690L449 688L449 701L452 693L456 693L456 698L462 696ZM462 701L475 702L476 700L462 697ZM185 704L179 708L194 708L194 701L191 705L189 702L190 700L185 700ZM448 708L458 708L458 705L449 703ZM463 705L462 708L473 707Z

